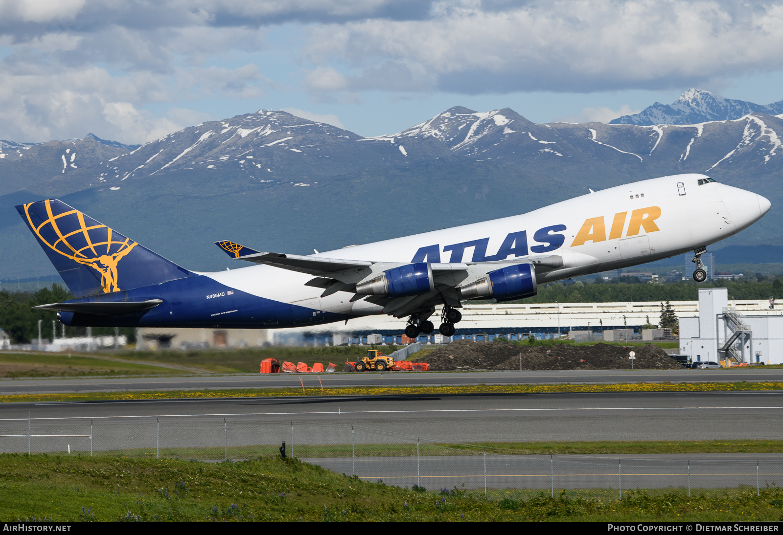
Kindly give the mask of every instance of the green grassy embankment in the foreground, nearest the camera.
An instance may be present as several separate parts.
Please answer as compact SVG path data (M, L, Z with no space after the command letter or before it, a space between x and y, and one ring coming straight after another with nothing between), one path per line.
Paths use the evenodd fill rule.
M362 481L276 457L244 462L64 458L0 455L2 520L778 520L783 492L765 488L655 496L622 501L539 493L524 500L504 490L482 494L420 492ZM572 493L573 494L573 493ZM577 493L578 494L578 493ZM605 494L604 494L605 495Z

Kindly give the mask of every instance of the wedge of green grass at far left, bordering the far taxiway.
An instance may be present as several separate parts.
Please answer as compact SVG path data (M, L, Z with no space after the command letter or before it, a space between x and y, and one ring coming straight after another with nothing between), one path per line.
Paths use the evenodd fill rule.
M92 377L99 375L177 375L155 364L108 361L94 355L0 352L0 377Z

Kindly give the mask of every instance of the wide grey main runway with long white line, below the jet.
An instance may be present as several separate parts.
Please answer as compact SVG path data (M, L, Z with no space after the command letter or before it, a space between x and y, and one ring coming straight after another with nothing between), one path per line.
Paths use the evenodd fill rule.
M6 403L0 404L0 428L27 433L28 411L33 425L83 428L90 420L106 440L156 421L185 435L218 425L222 436L224 419L256 426L250 443L267 444L290 440L291 422L296 443L317 444L350 443L351 425L361 429L356 443L783 436L783 392L774 390ZM136 445L130 440L124 447Z

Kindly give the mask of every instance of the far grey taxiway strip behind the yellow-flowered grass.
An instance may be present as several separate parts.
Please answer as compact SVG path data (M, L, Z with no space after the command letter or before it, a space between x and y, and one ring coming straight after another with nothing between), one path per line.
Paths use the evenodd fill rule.
M783 381L783 368L721 370L586 370L565 372L363 372L333 374L235 374L179 377L0 379L0 394L226 390L305 386L471 386L569 382ZM321 383L319 383L319 379Z

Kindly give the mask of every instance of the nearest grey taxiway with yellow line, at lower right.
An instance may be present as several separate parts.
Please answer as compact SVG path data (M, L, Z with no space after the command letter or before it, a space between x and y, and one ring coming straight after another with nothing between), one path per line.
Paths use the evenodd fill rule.
M428 490L618 490L766 487L783 479L783 454L464 455L395 458L307 458L337 473ZM758 472L756 469L758 468ZM464 487L463 487L464 484ZM614 490L613 492L610 490ZM549 494L547 492L547 494ZM596 493L598 494L598 493Z

